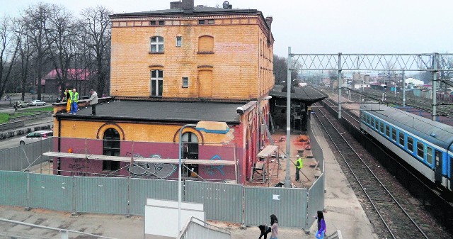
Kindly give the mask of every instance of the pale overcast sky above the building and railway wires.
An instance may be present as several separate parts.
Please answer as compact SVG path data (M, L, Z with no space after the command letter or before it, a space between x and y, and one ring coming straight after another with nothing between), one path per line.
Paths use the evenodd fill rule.
M114 13L169 9L175 0L43 0L74 13L107 6ZM16 16L35 0L0 0L0 16ZM222 0L195 5L222 6ZM274 53L453 52L453 0L230 0L233 8L273 16Z

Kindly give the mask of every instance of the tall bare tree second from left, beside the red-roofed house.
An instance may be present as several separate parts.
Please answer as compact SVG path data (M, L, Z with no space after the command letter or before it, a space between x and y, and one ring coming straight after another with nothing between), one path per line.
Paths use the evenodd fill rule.
M41 79L42 68L45 64L45 57L50 46L45 39L45 30L52 6L50 4L39 3L35 6L28 6L22 13L24 26L23 34L28 36L30 44L35 51L35 72L38 73L38 99L41 99ZM33 84L35 84L33 79Z

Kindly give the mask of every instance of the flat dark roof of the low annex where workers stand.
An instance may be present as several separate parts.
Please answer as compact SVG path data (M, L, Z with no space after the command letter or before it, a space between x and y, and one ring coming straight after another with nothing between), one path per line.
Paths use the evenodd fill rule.
M77 114L57 113L59 118L90 118L123 121L158 121L195 123L198 121L222 121L239 124L236 109L243 104L180 101L110 101L96 106L96 116L91 107L82 107Z

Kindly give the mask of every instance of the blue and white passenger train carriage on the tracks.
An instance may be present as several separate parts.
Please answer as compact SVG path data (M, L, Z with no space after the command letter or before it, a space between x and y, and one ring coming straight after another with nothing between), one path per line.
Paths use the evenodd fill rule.
M360 106L360 128L431 182L452 191L453 128L382 104Z

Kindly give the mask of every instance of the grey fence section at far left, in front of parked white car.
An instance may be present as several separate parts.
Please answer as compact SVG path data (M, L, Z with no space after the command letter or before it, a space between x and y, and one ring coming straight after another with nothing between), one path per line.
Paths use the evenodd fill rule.
M19 145L19 140L17 144ZM42 156L42 153L52 151L52 148L52 138L46 138L28 145L0 150L0 170L20 171L47 162L49 157Z

